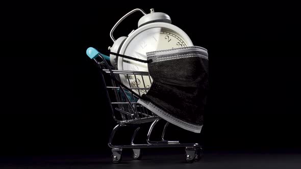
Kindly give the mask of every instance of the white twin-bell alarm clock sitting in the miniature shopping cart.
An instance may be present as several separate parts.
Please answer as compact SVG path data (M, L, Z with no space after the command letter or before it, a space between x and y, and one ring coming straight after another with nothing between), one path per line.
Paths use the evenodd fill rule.
M134 12L141 12L143 16L138 21L138 29L133 30L127 37L122 36L115 40L113 32L118 24ZM188 35L179 27L171 24L170 17L162 12L150 9L146 14L142 9L134 9L120 18L113 26L110 37L113 41L109 50L114 53L128 55L133 58L147 60L146 52L172 49L178 47L193 46ZM111 65L117 70L143 71L147 72L147 64L110 54ZM149 88L151 77L134 75L120 75L120 81L129 88ZM134 92L145 93L146 90L134 90Z

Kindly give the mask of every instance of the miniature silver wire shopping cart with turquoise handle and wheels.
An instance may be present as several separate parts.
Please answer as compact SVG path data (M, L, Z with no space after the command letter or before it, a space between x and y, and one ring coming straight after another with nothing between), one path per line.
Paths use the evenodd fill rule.
M87 49L87 54L101 69L101 77L105 82L106 95L111 103L110 109L113 119L117 122L117 125L112 130L108 144L109 147L112 148L111 162L119 163L121 161L121 153L123 149L132 149L133 158L137 160L141 159L141 149L167 147L185 147L185 160L187 162L200 160L202 148L199 144L182 144L179 143L179 141L169 141L164 139L165 131L169 124L168 122L166 122L163 127L160 141L150 140L150 136L152 135L156 124L158 124L160 120L164 120L141 104L137 103L137 100L139 99L137 95L141 96L143 93L146 93L149 90L149 86L145 85L145 81L147 80L152 83L152 78L149 76L148 72L114 70L114 68L111 67L106 61L109 60L109 57L99 53L92 47ZM127 77L127 79L131 79L132 82L128 80L128 84L121 83L120 77L122 76ZM138 81L140 82L140 85L137 85ZM130 92L129 90L133 90L134 93ZM151 123L146 137L147 144L135 144L134 140L136 138L136 134L141 125L144 123ZM131 138L131 144L113 145L112 141L116 131L124 126L136 127Z

